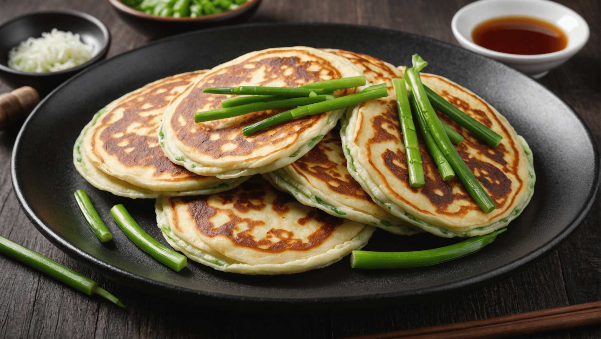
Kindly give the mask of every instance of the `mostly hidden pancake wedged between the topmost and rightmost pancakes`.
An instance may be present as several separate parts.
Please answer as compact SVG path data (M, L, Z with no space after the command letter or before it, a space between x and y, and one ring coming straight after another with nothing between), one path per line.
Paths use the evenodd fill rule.
M299 160L263 177L304 205L335 217L370 224L398 235L423 232L376 205L350 176L338 131L330 131Z

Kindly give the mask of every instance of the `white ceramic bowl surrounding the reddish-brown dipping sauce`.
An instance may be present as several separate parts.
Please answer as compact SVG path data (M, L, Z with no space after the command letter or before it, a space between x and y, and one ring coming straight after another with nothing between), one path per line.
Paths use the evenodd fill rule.
M574 19L576 19L576 22L578 22L578 26L582 26L582 30L584 31L584 34L578 35L578 36L576 36L576 38L573 41L570 41L570 40L572 40L573 35L570 36L570 34L569 34L570 32L566 32L564 29L562 29L562 31L564 31L564 33L569 37L566 48L564 48L562 50L558 50L557 52L535 54L535 55L522 55L522 54L496 52L495 50L490 50L490 49L484 48L480 45L473 43L471 40L471 37L468 38L462 34L459 27L457 26L459 20L462 19L462 16L465 16L468 11L474 10L477 7L483 7L486 5L499 3L499 2L514 2L514 3L530 2L530 3L535 3L536 5L539 5L539 6L545 6L547 8L554 7L555 10L563 12L564 15L571 16ZM515 14L501 14L498 16L484 17L483 19L478 20L478 23L481 23L485 20L492 19L494 17L502 17L502 16L509 16L509 15L535 17L535 15L520 13L520 9L516 8ZM538 17L538 19L543 19L543 20L549 21L540 16ZM559 25L557 25L557 23L554 23L554 25L559 26ZM549 0L480 0L480 1L475 1L469 5L466 5L465 7L461 8L459 11L457 11L457 13L455 13L455 15L453 16L453 20L451 21L451 29L453 29L453 34L455 35L457 40L461 40L460 43L469 45L471 47L471 49L474 50L475 52L478 52L478 53L486 55L486 56L490 56L492 58L506 59L506 60L511 59L514 61L545 61L548 59L549 60L550 59L558 59L563 56L572 55L573 53L578 52L578 50L580 50L584 46L584 44L587 43L588 35L590 34L587 22L578 13L576 13L575 11L571 10L570 8L568 8L562 4L558 4L557 2L553 2L553 1L549 1ZM469 29L470 33L473 29L474 29L473 27L471 27Z

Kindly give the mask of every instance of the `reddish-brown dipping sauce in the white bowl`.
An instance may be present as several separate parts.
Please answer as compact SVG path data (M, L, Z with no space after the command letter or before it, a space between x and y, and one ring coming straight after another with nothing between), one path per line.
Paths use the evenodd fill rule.
M545 20L505 16L486 20L474 28L472 40L484 48L511 54L544 54L567 46L566 34Z

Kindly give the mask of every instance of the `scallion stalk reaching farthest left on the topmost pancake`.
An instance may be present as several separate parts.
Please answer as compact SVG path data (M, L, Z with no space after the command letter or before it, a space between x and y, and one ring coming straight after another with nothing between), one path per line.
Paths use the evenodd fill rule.
M260 103L250 103L234 107L206 110L204 112L194 113L194 122L225 119L231 118L232 116L239 116L247 113L258 112L260 110L303 106L332 99L334 99L334 95L316 95L314 97L287 98L283 100L261 101Z

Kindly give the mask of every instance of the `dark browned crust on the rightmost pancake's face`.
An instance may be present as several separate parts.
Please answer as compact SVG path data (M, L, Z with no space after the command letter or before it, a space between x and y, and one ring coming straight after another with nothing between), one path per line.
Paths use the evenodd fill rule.
M426 77L426 78L427 77L435 77L435 76L430 76L427 74L422 75L422 76ZM436 78L440 79L438 77L436 77ZM444 80L444 79L440 79L440 80ZM446 80L444 80L444 81L445 81L445 83L447 83L448 86L459 89L460 91L464 91L463 88L461 88L460 86L457 86L454 83L448 82ZM446 100L450 101L455 106L459 107L464 112L468 113L470 116L472 116L472 118L477 119L478 121L482 122L484 125L487 125L487 127L491 127L493 125L492 121L490 121L490 118L489 118L489 117L492 117L493 119L495 119L496 125L498 125L502 129L504 135L506 135L506 136L511 135L510 132L505 127L505 125L502 123L501 119L493 112L491 107L488 104L486 104L483 100L478 98L476 95L470 94L472 98L474 98L475 100L478 100L484 107L486 107L487 112L483 112L478 109L472 109L472 107L469 106L468 103L461 100L460 98L451 96L447 91L444 91L441 95ZM361 104L361 105L364 106L364 104ZM376 130L377 132L376 132L376 137L373 138L372 140L370 140L370 142L379 142L381 140L386 140L391 137L394 137L394 139L397 139L396 136L392 136L392 134L389 134L383 128L380 128L382 122L376 121L376 120L385 121L386 124L389 124L391 127L394 127L397 130L399 130L398 133L399 133L399 135L401 135L400 125L398 123L398 118L396 116L395 110L392 108L392 103L388 103L388 106L389 107L385 113L371 119L372 120L371 127L374 128L374 130ZM519 171L518 167L519 167L520 157L519 157L519 150L517 149L515 141L511 138L505 138L504 142L501 145L497 146L497 148L495 148L495 149L490 148L489 146L484 145L483 143L478 141L475 138L475 136L473 136L471 133L469 133L469 131L462 128L459 124L456 124L455 122L453 122L446 115L444 115L438 111L436 113L438 114L439 118L442 119L442 121L444 121L446 124L453 127L455 130L459 131L459 133L461 133L463 136L465 136L465 139L463 140L463 142L460 145L454 145L455 148L457 149L457 152L459 152L459 155L463 158L465 163L472 170L472 173L474 173L475 177L478 179L480 184L482 184L489 191L489 194L490 194L493 202L495 203L496 207L501 208L502 206L505 205L504 209L496 210L495 215L501 215L501 214L504 214L505 212L510 211L510 209L513 209L515 199L518 195L515 193L517 193L523 189L523 181L521 178L519 178L519 175L517 175L517 173ZM380 122L380 124L378 124L379 122ZM377 124L377 126L374 124ZM361 125L359 126L358 131L356 132L356 136L361 135L362 128L364 128L364 120L363 119L361 119ZM358 137L356 137L356 138L358 138ZM386 167L389 169L389 171L393 175L395 175L400 181L406 182L407 183L406 187L409 190L411 190L413 193L419 192L419 193L424 194L429 199L430 203L432 203L432 205L436 206L436 214L448 215L448 216L453 216L453 217L462 217L462 216L467 215L468 212L471 210L480 211L480 208L478 207L477 203L472 199L472 197L469 195L468 191L465 190L465 187L463 187L463 184L459 181L458 178L453 178L450 181L446 181L446 182L442 181L442 178L440 178L440 175L438 175L438 167L436 167L436 164L434 163L430 154L427 153L427 151L425 151L427 148L423 142L423 139L422 139L419 131L418 131L418 139L419 139L419 148L421 150L421 157L422 157L422 161L423 161L424 177L425 177L426 184L421 188L413 188L413 187L409 186L408 179L407 179L406 157L404 156L404 152L401 151L401 149L398 149L397 154L394 154L393 152L391 152L389 150L388 150L388 152L385 152L384 154L382 154L382 158L385 161ZM357 142L358 142L358 139L355 139L355 143L357 143ZM400 140L399 140L399 142L400 142ZM503 155L505 153L507 153L507 148L505 148L505 144L508 145L508 147L510 148L510 150L513 154L513 161L511 164L507 164L503 158ZM486 163L484 161L478 160L477 158L471 157L470 154L468 153L468 146L470 146L471 148L477 149L478 155L487 157L490 160L494 161L495 163L500 164L502 166L502 170L499 170L497 167L492 166L489 163ZM520 147L521 147L521 145L520 145ZM412 203L412 200L405 199L405 197L401 196L401 194L398 194L397 191L395 191L388 184L386 175L384 173L380 172L380 170L378 170L377 167L374 165L373 160L372 160L373 158L371 157L371 149L370 148L367 148L367 158L368 158L368 161L370 162L370 165L372 166L372 168L374 170L376 170L377 174L380 176L380 179L382 180L382 182L385 183L386 188L388 188L389 194L392 194L395 197L395 199L398 199L401 202L406 203L408 206L415 209L416 211L419 211L423 214L434 215L430 211L419 208L419 206ZM395 164L395 161L399 164L402 164L403 166L398 166L397 164ZM510 188L511 180L507 178L507 175L505 175L505 173L512 173L516 178L518 186L517 186L516 190L513 191L514 194L511 194L511 192L512 192L512 190ZM507 203L507 199L510 199L509 203ZM462 206L456 212L447 211L446 210L447 206L451 205L451 203L453 203L456 200L467 200L469 202L469 204Z

